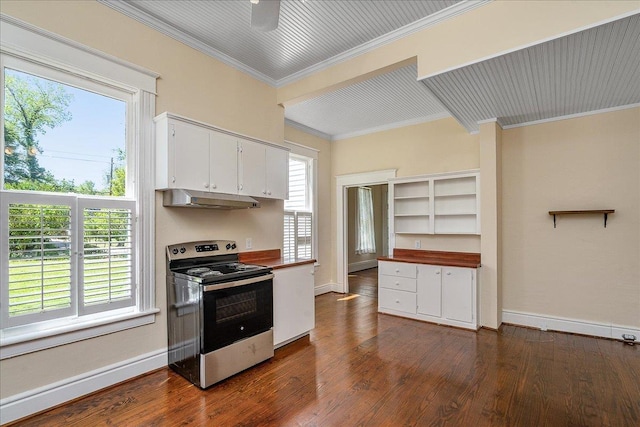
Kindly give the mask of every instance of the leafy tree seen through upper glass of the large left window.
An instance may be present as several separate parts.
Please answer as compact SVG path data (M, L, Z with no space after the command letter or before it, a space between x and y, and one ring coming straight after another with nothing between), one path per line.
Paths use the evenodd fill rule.
M60 83L5 74L5 182L47 182L51 174L38 163L38 136L71 120L72 95Z

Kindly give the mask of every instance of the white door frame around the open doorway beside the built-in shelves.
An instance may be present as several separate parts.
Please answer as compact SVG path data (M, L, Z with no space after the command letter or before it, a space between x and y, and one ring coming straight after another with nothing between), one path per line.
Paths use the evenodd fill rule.
M347 267L347 189L362 185L388 184L396 177L397 169L353 173L336 176L336 286L335 292L348 293L349 279ZM388 213L387 213L388 215Z

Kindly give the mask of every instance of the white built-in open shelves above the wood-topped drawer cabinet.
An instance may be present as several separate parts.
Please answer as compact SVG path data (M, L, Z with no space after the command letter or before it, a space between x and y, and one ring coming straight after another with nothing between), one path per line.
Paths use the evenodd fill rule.
M391 234L480 234L479 172L389 181Z

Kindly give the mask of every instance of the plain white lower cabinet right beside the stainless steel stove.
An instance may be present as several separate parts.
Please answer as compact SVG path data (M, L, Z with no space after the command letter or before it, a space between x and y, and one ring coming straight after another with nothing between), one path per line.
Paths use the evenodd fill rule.
M313 264L274 270L273 344L283 346L315 327Z

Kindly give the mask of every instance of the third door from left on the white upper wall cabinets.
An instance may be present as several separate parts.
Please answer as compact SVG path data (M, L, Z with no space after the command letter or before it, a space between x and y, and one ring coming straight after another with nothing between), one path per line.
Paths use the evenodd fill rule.
M265 197L265 146L240 140L238 192L248 196Z

